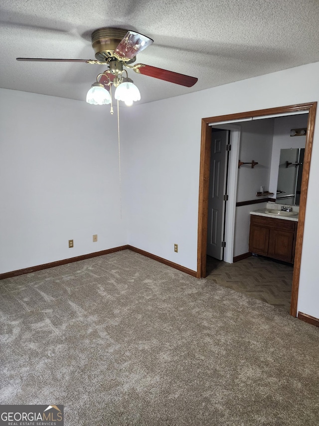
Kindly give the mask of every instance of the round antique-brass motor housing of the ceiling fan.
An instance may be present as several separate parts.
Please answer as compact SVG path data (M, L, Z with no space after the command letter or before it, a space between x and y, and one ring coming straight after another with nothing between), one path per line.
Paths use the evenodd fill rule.
M100 62L108 62L110 58L114 57L114 50L127 32L128 30L123 28L99 28L93 31L92 47L96 59Z

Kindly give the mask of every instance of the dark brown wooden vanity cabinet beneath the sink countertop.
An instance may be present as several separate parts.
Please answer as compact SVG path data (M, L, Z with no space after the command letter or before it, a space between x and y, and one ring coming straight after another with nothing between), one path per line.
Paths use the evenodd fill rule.
M297 221L250 216L249 251L294 263Z

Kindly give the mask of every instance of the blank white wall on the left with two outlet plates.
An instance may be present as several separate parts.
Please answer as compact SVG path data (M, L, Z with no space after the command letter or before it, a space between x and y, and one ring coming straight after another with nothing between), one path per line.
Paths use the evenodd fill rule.
M0 182L0 273L127 242L108 106L0 89Z

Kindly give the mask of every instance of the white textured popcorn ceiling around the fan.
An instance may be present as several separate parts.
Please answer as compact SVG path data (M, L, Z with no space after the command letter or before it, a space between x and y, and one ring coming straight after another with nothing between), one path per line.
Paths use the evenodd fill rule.
M105 26L154 39L137 62L198 77L186 88L129 71L140 103L319 61L319 0L1 0L0 87L85 100L105 65L15 58L94 59Z

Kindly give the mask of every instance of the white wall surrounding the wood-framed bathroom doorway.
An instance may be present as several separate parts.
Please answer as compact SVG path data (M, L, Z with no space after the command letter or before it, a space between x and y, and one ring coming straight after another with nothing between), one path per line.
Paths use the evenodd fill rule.
M319 62L136 105L125 144L129 244L196 270L201 118L318 101L318 75ZM319 318L316 126L298 309Z

